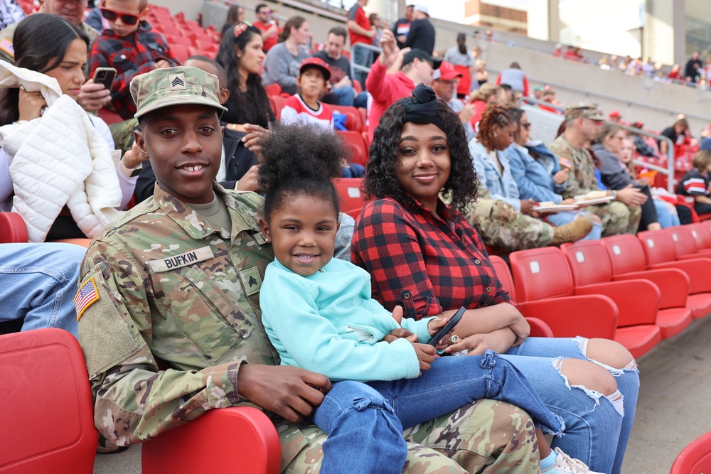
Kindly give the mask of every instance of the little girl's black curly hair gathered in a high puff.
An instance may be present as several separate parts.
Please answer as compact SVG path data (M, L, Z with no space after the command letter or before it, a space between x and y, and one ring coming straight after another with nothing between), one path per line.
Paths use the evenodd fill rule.
M267 193L267 222L285 200L299 194L330 200L338 216L338 193L331 179L341 176L341 165L349 153L336 134L317 126L277 124L260 140L260 145L257 181Z

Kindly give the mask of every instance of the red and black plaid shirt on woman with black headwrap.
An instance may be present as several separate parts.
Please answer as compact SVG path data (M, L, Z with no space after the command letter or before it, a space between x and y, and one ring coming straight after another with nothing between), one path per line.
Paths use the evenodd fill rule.
M405 316L482 308L510 298L471 225L442 201L436 217L424 205L410 208L391 198L370 201L355 224L354 264L370 273L373 298Z

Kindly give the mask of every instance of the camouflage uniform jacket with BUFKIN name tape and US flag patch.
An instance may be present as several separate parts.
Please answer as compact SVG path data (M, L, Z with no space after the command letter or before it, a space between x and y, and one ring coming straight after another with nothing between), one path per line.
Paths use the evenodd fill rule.
M231 237L162 190L107 226L82 262L99 299L79 318L95 424L107 446L126 446L245 402L240 365L279 365L261 323L259 290L274 259L258 226L262 198L215 184ZM165 367L169 370L161 370ZM293 431L282 459L299 452ZM282 435L283 436L283 435Z

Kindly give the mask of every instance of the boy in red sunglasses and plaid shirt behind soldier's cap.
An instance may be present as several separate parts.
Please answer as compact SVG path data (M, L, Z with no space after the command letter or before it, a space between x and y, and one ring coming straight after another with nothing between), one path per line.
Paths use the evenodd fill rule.
M97 68L115 68L111 87L112 108L127 120L136 113L129 94L131 80L143 72L179 64L166 38L146 21L148 0L105 0L101 13L109 28L95 39L90 55L90 75Z

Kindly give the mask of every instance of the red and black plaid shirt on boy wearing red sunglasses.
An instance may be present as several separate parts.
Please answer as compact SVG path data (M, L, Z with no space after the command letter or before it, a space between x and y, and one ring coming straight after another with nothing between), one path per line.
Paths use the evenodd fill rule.
M121 118L126 120L136 113L136 104L129 89L131 80L139 74L154 70L161 59L168 60L171 66L180 65L166 38L157 31L151 31L148 22L141 22L137 31L123 37L105 29L92 45L89 77L94 77L96 68L116 68L117 76L111 87L111 103Z

